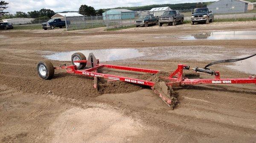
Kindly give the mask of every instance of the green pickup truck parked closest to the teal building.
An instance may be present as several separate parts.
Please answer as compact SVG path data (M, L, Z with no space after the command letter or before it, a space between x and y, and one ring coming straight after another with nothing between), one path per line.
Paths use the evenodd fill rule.
M136 27L148 27L148 25L158 25L158 17L154 17L153 14L140 15L139 19L134 21L134 25L136 25Z

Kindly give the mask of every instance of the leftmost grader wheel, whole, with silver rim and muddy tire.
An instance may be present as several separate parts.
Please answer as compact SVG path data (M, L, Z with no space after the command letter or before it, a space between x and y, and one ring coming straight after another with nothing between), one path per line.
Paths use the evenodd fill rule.
M49 60L44 60L38 63L37 66L38 75L42 79L52 79L54 76L54 67Z

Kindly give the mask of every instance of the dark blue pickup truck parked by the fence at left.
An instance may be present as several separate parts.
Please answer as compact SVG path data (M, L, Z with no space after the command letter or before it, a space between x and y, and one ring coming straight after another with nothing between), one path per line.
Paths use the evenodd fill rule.
M67 24L70 24L70 21L67 21ZM54 29L55 27L63 28L66 26L65 21L62 21L60 18L52 19L47 22L42 23L42 28L47 30L48 28Z

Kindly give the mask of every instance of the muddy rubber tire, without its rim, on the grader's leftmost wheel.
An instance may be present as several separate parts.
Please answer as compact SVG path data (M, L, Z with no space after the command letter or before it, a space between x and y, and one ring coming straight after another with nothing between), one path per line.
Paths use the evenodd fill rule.
M46 68L46 75L42 76L39 72L39 66L40 65L44 65L44 67ZM52 77L54 76L54 67L52 65L52 63L49 60L44 60L44 61L40 61L38 63L37 66L37 71L38 71L38 75L42 78L42 79L52 79Z

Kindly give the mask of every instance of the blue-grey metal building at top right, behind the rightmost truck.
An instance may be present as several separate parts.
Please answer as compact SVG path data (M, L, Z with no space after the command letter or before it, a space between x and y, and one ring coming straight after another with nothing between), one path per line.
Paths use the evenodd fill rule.
M215 14L243 13L248 9L248 3L244 0L219 0L207 6Z

